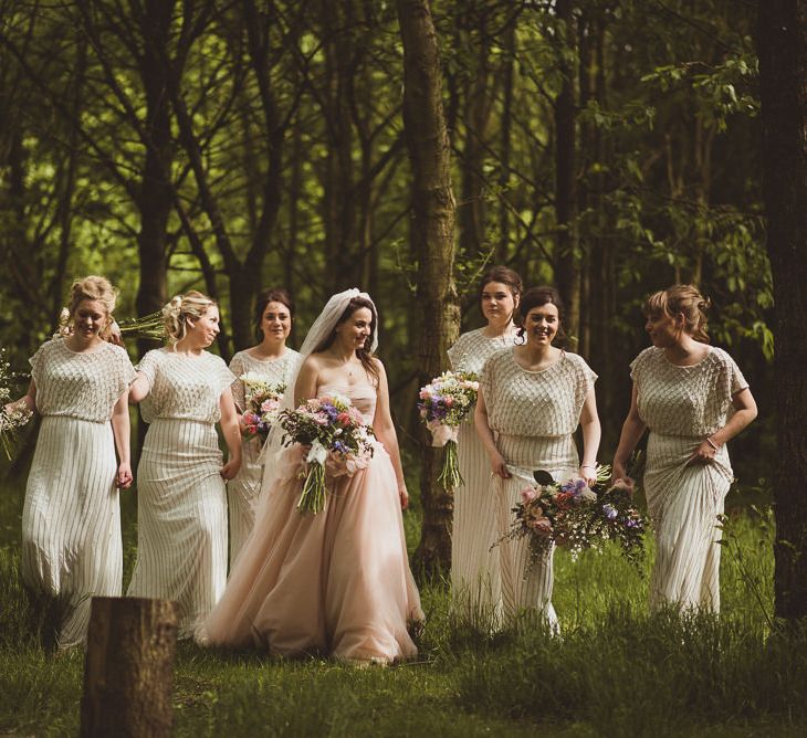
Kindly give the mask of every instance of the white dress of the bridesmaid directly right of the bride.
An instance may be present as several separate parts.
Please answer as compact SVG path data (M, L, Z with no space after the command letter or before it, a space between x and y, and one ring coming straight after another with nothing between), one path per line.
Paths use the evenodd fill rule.
M449 349L454 371L479 375L484 362L496 351L513 346L514 333L494 338L483 328L462 334ZM460 428L457 456L463 484L454 489L454 515L451 534L451 594L454 608L482 623L501 619L499 551L491 546L497 539L491 462L476 435L473 410Z

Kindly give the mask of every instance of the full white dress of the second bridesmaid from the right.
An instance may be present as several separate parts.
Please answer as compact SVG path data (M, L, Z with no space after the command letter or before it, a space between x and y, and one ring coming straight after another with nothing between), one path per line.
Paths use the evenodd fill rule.
M512 509L521 502L521 491L534 484L533 472L544 470L556 482L579 475L572 434L596 379L581 357L566 351L539 371L522 368L513 349L500 351L485 362L481 386L488 421L512 474L509 479L494 477L497 538L510 531ZM554 550L531 568L526 538L502 540L496 549L505 619L535 609L552 630L557 630L552 604Z

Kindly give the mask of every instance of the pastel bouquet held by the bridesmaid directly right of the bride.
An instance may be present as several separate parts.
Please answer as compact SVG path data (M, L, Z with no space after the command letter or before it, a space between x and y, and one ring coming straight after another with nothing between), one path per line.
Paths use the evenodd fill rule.
M431 431L431 445L446 446L443 466L438 477L446 489L462 484L457 462L457 434L462 422L473 411L478 391L476 375L462 371L444 371L420 388L418 410L420 419Z

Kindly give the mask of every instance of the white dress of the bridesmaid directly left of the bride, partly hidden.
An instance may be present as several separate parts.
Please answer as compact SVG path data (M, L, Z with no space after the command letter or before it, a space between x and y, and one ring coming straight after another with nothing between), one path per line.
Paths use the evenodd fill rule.
M300 354L290 348L277 359L256 359L249 351L239 351L230 361L230 370L238 378L252 372L270 384L287 384L298 359ZM232 383L232 396L239 412L248 410L241 379ZM261 441L244 439L241 442L241 470L227 483L230 505L230 567L235 562L255 524L255 502L261 491L261 464L258 461L260 454Z

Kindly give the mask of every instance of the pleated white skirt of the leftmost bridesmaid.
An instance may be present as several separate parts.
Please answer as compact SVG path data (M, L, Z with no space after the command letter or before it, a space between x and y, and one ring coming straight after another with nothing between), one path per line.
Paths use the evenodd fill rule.
M42 419L22 512L22 577L35 591L65 598L60 647L86 641L92 595L120 594L116 472L109 423Z

